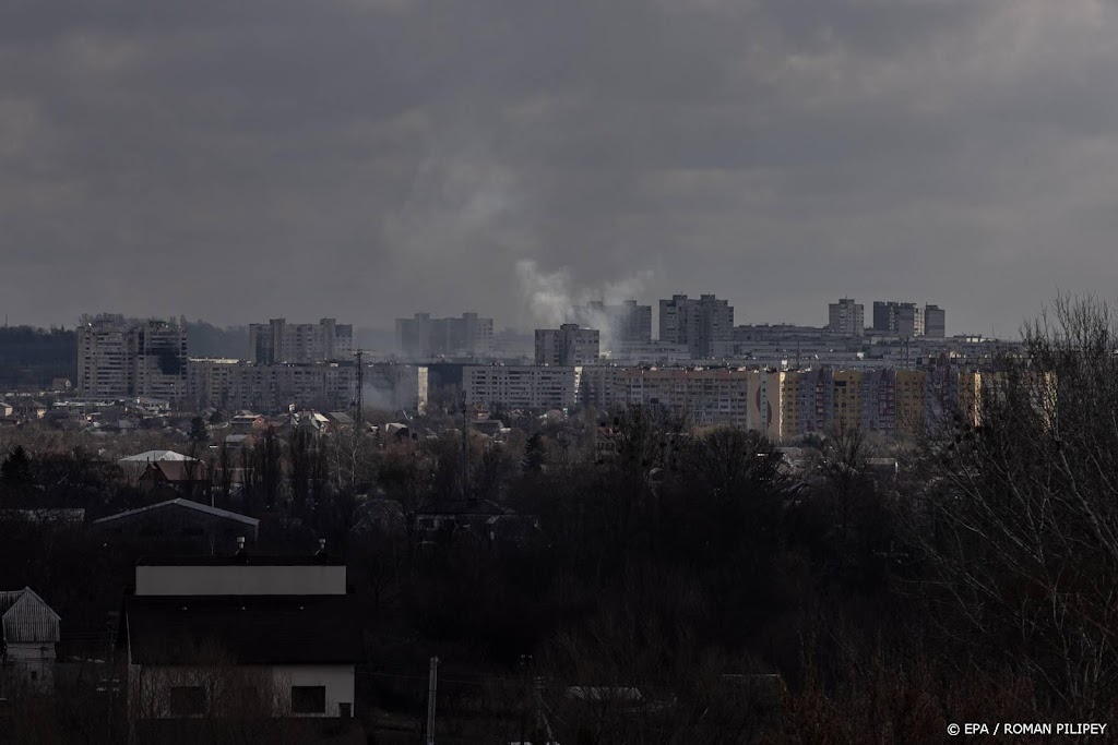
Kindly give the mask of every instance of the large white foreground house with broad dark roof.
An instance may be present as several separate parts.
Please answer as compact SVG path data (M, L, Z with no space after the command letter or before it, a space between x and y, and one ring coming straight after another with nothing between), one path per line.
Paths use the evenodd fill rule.
M304 557L241 548L138 562L119 637L130 717L352 717L364 657L353 601L345 564L324 546Z

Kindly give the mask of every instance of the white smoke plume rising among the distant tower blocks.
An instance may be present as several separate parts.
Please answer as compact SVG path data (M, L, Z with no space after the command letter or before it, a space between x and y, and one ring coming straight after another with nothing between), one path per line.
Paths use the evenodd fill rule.
M537 327L558 328L560 324L578 323L600 332L600 348L614 348L619 329L614 327L616 318L607 313L588 308L591 302L605 305L620 305L624 300L637 299L644 289L651 271L641 271L632 277L606 283L599 287L571 288L570 271L543 271L531 259L517 261L517 279L520 292Z

